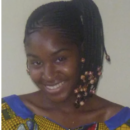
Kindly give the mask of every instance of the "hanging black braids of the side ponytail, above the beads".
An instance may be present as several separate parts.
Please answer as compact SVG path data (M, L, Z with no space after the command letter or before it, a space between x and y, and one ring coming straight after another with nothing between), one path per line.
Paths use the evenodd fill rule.
M85 69L96 71L102 66L104 54L104 38L101 17L97 6L92 0L74 0L81 11L84 26Z

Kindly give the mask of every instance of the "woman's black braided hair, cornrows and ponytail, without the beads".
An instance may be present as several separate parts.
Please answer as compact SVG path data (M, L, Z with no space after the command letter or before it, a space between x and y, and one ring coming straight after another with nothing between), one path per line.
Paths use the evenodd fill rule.
M100 13L92 0L52 2L37 8L26 24L25 46L26 37L44 27L58 30L61 36L83 48L85 63L81 73L86 70L96 72L102 67L107 52Z

